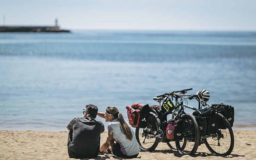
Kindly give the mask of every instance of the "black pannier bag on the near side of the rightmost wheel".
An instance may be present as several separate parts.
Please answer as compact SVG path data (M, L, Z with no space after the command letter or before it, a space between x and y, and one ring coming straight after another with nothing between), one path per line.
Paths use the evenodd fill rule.
M212 108L196 109L196 111L193 112L193 116L196 117L200 132L205 135L217 132L218 119L215 112L216 111Z

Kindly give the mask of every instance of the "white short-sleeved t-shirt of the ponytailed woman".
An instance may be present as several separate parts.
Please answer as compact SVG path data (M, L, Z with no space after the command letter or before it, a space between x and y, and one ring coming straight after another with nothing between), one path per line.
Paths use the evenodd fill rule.
M126 122L126 124L128 123ZM121 151L124 155L133 156L140 153L140 147L138 142L136 141L135 133L132 127L130 125L129 127L133 136L132 140L126 139L125 134L121 131L121 127L117 122L117 119L114 119L108 124L108 133L112 134L114 140L120 144Z

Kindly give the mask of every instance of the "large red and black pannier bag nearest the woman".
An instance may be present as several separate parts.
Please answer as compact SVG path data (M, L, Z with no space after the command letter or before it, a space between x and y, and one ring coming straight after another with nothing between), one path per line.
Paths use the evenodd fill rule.
M146 128L149 116L149 105L144 103L133 103L132 107L126 106L129 124L135 128Z

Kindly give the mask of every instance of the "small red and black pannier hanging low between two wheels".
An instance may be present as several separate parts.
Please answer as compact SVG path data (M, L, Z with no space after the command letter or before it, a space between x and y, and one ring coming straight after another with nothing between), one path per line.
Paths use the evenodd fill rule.
M184 137L184 121L179 119L169 120L169 124L166 127L166 138L169 140L182 140Z

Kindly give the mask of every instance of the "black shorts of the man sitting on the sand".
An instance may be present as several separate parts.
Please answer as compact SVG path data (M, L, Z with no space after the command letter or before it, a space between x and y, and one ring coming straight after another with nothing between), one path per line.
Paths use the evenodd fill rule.
M72 152L72 150L71 150L72 139L73 139L73 131L69 131L69 133L68 133L68 156L69 156L69 158L83 159L83 158L96 158L98 156L98 153L100 151L100 143L98 144L98 147L94 154L84 155L84 154L78 154L78 153ZM99 142L100 142L100 139L99 139Z

